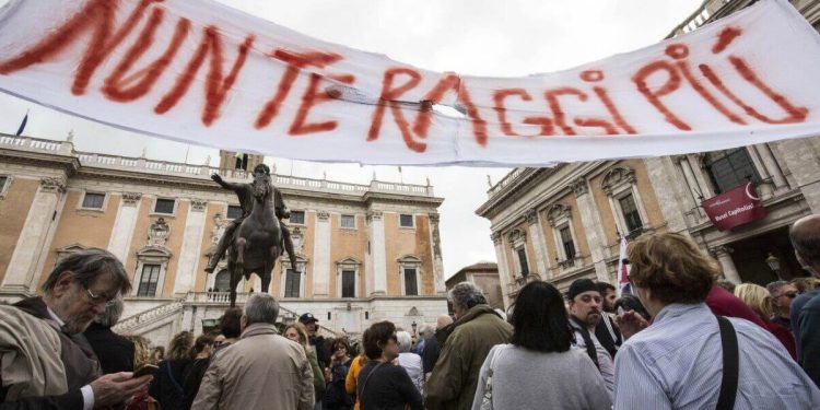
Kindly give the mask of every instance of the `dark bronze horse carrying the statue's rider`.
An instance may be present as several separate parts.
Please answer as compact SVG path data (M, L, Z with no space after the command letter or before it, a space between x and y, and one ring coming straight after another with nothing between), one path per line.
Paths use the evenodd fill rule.
M231 307L236 305L236 285L243 277L256 273L262 292L270 289L271 272L282 254L282 230L274 212L273 186L270 175L254 176L254 210L242 221L227 250L231 272Z

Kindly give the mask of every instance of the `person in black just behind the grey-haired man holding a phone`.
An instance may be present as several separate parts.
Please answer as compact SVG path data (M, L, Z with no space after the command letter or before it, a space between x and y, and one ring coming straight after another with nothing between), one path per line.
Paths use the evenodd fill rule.
M83 336L99 359L103 374L133 372L133 342L112 331L122 315L122 298L115 298L105 313L89 325Z

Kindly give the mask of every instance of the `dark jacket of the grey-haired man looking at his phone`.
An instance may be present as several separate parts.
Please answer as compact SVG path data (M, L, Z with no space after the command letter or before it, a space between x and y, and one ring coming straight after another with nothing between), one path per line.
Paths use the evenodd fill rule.
M50 323L57 324L48 314L42 297L24 298L13 305L19 309ZM80 388L99 377L99 364L87 340L82 335L68 335L58 331L60 338L60 361L66 368L68 393L59 396L27 397L13 402L5 402L9 387L0 384L0 409L82 409L83 397Z

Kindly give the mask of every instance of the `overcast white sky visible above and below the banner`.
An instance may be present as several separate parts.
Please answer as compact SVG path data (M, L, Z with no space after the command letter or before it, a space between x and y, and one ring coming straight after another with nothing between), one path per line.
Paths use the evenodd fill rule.
M0 7L8 0L0 0ZM221 0L298 32L432 70L516 77L571 68L660 40L700 0ZM31 108L26 134L63 139L73 129L81 151L183 161L188 145L74 118L0 95L0 132L13 133ZM218 151L191 147L188 161L218 160ZM398 181L396 167L272 160L279 173L367 183ZM508 169L405 166L406 183L430 178L441 208L445 276L479 260L495 260L490 224L475 214L487 199L487 175Z

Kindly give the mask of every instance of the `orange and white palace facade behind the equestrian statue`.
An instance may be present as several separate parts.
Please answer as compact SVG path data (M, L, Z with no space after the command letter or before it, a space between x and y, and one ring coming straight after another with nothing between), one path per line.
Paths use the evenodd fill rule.
M75 152L52 141L0 134L0 300L38 292L59 258L86 247L117 255L133 291L122 332L164 344L200 331L227 306L225 261L206 274L208 256L236 196L210 179L250 181L261 157L222 152L219 167ZM360 332L373 320L407 329L447 309L433 187L373 180L354 185L271 172L291 209L285 221L297 257L285 254L270 286L282 320L311 312L326 330ZM259 292L239 284L238 301Z

